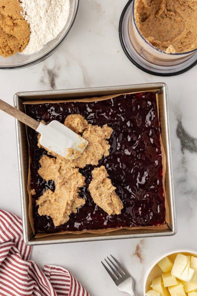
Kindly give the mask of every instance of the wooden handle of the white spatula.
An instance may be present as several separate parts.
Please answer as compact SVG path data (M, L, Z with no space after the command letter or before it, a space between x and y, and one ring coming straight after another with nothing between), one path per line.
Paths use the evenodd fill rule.
M14 118L18 119L22 123L30 126L32 129L36 130L38 125L40 124L35 119L31 118L30 116L26 115L25 113L21 112L20 110L14 108L10 104L2 101L0 99L0 110L6 112L7 114L13 116Z

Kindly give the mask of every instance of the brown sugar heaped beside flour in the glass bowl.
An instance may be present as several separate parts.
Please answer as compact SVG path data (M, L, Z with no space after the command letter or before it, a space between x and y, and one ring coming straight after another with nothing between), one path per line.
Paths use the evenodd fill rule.
M0 55L22 52L29 42L30 26L18 0L0 0Z

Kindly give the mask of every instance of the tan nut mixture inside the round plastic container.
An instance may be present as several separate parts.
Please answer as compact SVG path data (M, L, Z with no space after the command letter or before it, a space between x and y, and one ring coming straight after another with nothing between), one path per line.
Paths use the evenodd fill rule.
M166 53L197 48L196 0L136 0L135 19L144 38Z

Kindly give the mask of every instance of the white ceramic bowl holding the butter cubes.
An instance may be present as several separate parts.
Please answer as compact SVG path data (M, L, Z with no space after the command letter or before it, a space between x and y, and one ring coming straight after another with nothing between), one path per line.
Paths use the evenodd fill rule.
M145 273L144 284L143 284L144 296L148 290L151 290L152 280L161 276L162 271L159 268L159 266L157 265L157 263L167 256L174 261L176 258L176 255L178 253L181 253L184 255L194 255L197 257L197 252L194 250L191 250L191 249L175 249L175 250L169 251L168 253L163 254L162 256L158 257L156 259L156 261L154 261L154 263L147 269L147 271Z

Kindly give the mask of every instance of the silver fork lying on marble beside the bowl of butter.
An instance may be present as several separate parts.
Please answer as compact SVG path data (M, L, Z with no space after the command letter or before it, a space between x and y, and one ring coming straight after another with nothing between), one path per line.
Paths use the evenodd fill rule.
M120 291L126 292L131 296L136 296L134 293L135 281L132 278L131 274L127 271L127 269L122 264L120 264L120 262L114 256L112 255L110 256L114 259L116 264L109 257L107 257L108 261L106 259L105 261L107 262L107 264L109 265L109 267L113 272L111 272L111 270L102 261L101 263L103 264L103 266L105 267L109 275L111 276L112 280L115 282L116 286Z

